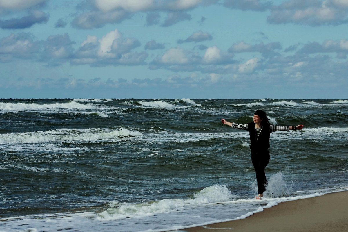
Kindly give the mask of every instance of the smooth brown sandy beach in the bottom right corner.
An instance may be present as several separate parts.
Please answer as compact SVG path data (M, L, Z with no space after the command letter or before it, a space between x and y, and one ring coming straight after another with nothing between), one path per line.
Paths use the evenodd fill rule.
M282 202L241 220L198 226L180 232L346 232L348 191Z

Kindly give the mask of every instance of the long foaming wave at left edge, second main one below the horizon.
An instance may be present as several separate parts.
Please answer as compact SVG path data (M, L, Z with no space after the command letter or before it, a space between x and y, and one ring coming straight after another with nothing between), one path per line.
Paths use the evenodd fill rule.
M25 132L0 134L0 144L42 143L59 141L99 141L119 137L141 136L142 133L128 129L111 130L108 128L56 129L45 132Z

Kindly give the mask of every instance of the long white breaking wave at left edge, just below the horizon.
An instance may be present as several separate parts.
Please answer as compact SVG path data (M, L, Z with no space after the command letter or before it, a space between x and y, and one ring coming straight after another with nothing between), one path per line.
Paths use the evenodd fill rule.
M54 103L54 104L35 104L35 103L3 103L0 102L0 110L4 111L22 111L22 110L32 110L32 111L45 111L45 110L56 110L56 109L94 109L93 105L80 104L74 101L68 103Z

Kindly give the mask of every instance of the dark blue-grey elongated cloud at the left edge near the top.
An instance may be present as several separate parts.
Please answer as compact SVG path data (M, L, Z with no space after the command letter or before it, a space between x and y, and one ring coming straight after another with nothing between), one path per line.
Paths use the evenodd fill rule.
M2 29L24 29L30 28L36 23L46 23L49 15L39 10L33 10L31 15L22 18L12 18L10 20L0 20L0 28Z

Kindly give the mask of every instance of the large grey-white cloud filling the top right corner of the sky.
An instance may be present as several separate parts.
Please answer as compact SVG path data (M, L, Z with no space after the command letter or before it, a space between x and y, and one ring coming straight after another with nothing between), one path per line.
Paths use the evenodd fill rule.
M340 25L348 22L348 4L344 0L290 0L271 9L267 22L310 26Z

